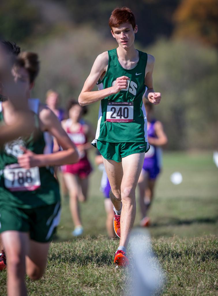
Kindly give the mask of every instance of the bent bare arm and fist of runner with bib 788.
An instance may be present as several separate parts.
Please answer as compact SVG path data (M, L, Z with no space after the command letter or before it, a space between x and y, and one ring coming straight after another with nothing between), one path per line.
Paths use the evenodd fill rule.
M69 139L56 115L49 108L43 107L39 118L42 130L51 133L63 150L51 154L35 154L30 150L25 150L25 154L18 157L19 165L22 168L31 168L76 163L79 160L76 146Z

